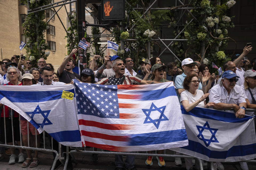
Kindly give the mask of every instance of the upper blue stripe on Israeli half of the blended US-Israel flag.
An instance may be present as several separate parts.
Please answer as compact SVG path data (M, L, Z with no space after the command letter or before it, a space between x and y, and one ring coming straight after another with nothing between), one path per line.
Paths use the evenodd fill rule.
M140 94L142 95L142 98L139 100L152 100L152 96L154 96L154 100L168 96L177 96L174 86L158 90L142 91Z

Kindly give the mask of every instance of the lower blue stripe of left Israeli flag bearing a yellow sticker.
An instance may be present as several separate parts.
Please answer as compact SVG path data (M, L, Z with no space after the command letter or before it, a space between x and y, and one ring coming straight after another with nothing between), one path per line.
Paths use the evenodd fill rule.
M49 133L57 142L78 142L81 141L79 130L60 131ZM72 136L72 138L70 138Z

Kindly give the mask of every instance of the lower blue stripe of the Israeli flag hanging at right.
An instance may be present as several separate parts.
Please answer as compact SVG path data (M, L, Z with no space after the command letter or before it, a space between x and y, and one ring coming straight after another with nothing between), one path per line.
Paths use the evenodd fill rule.
M246 156L256 153L256 143L233 146L227 151L211 151L201 143L189 140L189 145L181 148L194 151L214 159L226 159L231 156Z

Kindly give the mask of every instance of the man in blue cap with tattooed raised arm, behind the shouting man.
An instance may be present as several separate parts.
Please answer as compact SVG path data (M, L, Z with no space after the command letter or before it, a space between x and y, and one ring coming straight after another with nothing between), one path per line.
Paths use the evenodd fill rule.
M106 66L107 66L109 61L111 63L113 63L113 61L115 61L117 59L121 59L121 58L118 55L114 55L112 57L105 56L104 57L104 63L103 63L103 65L101 67L99 67L95 77L98 78L98 79L102 79L102 78L105 78L105 77L110 77L110 76L115 75L115 71L112 68L113 66L110 69L106 69ZM103 72L102 72L102 70L103 70ZM127 75L127 74L124 73L124 75Z

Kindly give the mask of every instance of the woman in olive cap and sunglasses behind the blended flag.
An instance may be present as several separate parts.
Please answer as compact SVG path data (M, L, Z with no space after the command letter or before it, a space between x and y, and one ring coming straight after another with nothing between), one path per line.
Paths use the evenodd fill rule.
M159 63L154 64L151 67L152 76L150 77L150 80L153 80L153 81L156 81L156 82L161 82L161 83L169 82L169 80L166 80L164 78L164 73L165 73L166 68L167 68L167 66L165 66L165 65L161 65Z

